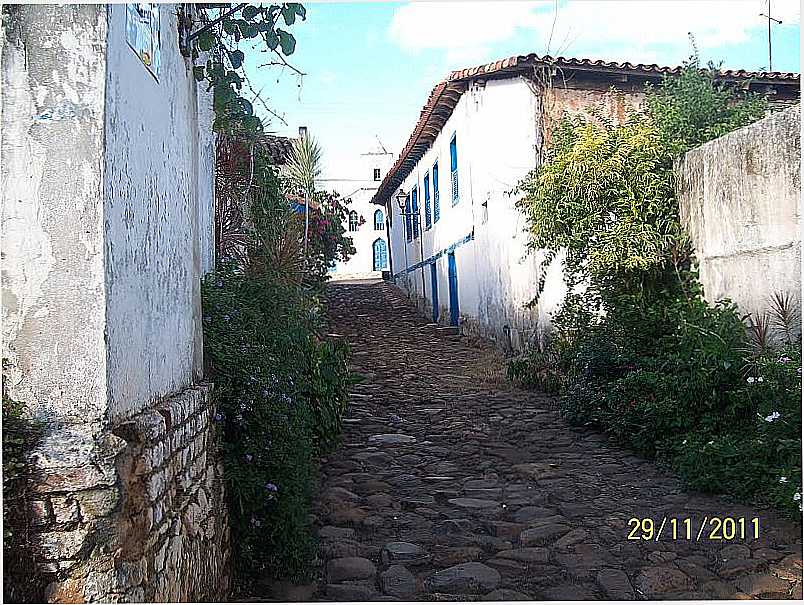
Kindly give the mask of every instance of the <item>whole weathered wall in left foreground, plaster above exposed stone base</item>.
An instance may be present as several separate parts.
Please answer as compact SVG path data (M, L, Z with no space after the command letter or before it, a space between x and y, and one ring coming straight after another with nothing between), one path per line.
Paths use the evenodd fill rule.
M226 596L202 368L209 100L162 5L157 82L124 5L17 5L2 56L5 386L43 423L31 540L49 601Z

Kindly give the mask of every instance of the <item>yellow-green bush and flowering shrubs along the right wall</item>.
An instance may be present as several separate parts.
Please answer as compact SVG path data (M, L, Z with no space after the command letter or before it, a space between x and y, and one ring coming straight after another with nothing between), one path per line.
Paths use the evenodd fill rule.
M777 295L747 332L733 304L704 301L672 173L681 153L765 110L693 59L622 124L562 122L519 207L531 247L548 252L543 268L566 254L570 292L554 337L509 374L559 390L571 422L657 457L695 489L799 514L798 307Z

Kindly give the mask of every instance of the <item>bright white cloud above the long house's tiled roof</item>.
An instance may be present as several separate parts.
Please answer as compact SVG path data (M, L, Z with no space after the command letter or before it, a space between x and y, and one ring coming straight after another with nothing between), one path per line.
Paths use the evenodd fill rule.
M594 48L600 49L599 58L654 62L668 55L668 47L685 56L688 33L703 50L743 43L751 30L767 26L759 16L767 12L765 0L562 0L553 26L555 6L551 1L412 2L396 9L388 33L411 52L444 50L450 63L472 58L464 65L487 60L489 45L518 30L532 36L528 50L539 54L548 51L550 40L553 55ZM775 0L773 14L785 25L797 24L799 3Z

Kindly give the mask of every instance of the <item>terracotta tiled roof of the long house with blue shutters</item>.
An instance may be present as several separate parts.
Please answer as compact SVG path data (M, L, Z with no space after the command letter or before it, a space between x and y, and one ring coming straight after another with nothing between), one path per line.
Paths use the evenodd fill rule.
M526 73L534 67L552 67L560 72L587 72L603 78L606 76L635 76L645 80L659 80L662 76L678 74L682 70L680 66L662 67L655 63L650 65L628 62L616 63L594 59L539 56L531 53L453 71L445 80L433 87L407 144L402 149L391 170L388 171L388 174L385 175L382 183L380 183L377 193L371 199L372 203L385 204L385 201L410 174L416 163L432 145L438 133L441 132L447 119L452 115L452 110L457 105L461 95L466 91L470 80L483 76L492 78L511 77L515 74ZM761 85L782 86L789 94L799 95L800 74L777 71L746 71L743 69L720 70L718 73L718 77L726 82L750 81L754 87Z

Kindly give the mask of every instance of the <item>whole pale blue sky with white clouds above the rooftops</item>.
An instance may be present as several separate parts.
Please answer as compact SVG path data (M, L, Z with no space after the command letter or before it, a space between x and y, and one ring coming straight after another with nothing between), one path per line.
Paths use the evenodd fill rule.
M304 2L287 67L247 50L246 71L267 130L307 126L324 178L355 178L378 140L396 157L432 87L451 70L518 54L678 65L692 50L724 68L768 66L768 0L543 0L534 2ZM800 5L772 0L774 71L800 72Z

